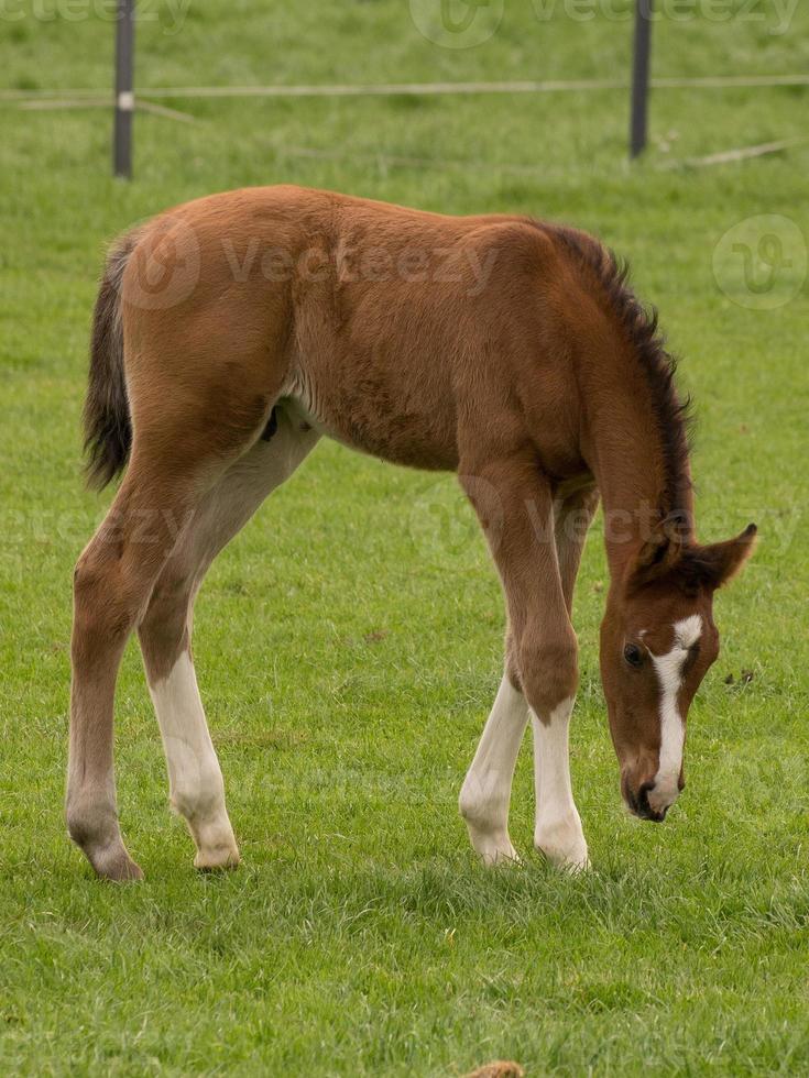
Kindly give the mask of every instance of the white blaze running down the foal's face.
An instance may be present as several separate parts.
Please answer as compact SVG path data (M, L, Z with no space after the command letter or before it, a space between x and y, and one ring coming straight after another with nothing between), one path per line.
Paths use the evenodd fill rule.
M686 725L679 712L677 697L682 685L682 664L688 658L688 649L699 640L701 632L702 617L692 614L675 623L675 642L671 650L666 654L652 656L660 682L660 756L655 784L648 795L649 804L656 812L668 809L676 801L679 792Z

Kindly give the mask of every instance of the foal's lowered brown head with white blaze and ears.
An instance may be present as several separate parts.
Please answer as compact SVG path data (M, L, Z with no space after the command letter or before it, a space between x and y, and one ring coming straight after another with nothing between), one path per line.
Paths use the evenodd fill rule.
M719 654L713 593L755 546L751 525L701 547L664 521L613 581L601 625L601 676L630 810L660 822L684 787L686 715Z

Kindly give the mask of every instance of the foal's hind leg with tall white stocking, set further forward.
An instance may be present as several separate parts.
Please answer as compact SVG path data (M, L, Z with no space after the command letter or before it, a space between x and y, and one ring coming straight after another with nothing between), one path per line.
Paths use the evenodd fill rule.
M225 785L192 658L194 600L210 563L317 441L295 415L276 409L277 428L233 464L181 535L139 627L149 689L168 766L172 806L187 822L197 868L234 866L239 851Z

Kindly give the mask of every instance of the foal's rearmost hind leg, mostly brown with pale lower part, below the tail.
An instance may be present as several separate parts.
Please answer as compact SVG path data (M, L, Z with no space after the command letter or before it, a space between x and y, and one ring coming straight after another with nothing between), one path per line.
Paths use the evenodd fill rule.
M144 355L135 359L146 365ZM185 384L172 382L158 362L146 370L149 378L130 377L132 459L76 566L67 826L98 875L112 880L141 876L121 839L112 765L113 696L124 645L189 518L266 421L264 398L252 392L245 374L240 371L239 381L227 385L216 378L206 384L205 365L197 367L196 380Z

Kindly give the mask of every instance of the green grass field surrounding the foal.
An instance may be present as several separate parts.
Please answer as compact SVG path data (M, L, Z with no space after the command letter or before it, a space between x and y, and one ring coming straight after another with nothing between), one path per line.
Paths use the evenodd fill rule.
M138 80L627 72L626 22L535 10L514 0L491 40L448 50L394 0L196 2L179 26L167 8L139 26ZM806 69L805 7L783 34L772 3L726 10L726 22L658 23L656 74ZM107 90L109 22L19 11L0 21L4 88ZM505 1057L529 1075L809 1072L809 144L664 167L806 134L809 88L660 91L632 169L622 91L165 103L198 122L139 116L136 178L122 185L108 178L106 111L0 102L0 1069L440 1076ZM500 678L499 584L451 476L334 444L219 559L197 606L243 866L192 868L135 647L117 765L146 882L97 882L66 839L70 574L110 497L83 492L79 437L105 244L164 206L275 182L598 231L631 257L684 356L701 535L761 527L754 562L718 600L723 653L692 707L688 789L664 827L620 805L593 529L575 612L587 876L531 856L528 751L512 810L525 865L477 864L456 799ZM745 290L737 260L719 257L714 274L722 237L765 213L794 222L769 228L786 244L774 309L765 287Z

